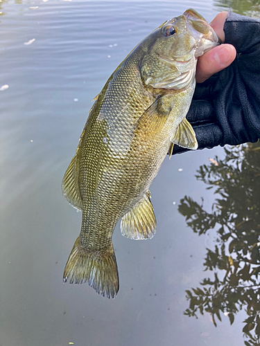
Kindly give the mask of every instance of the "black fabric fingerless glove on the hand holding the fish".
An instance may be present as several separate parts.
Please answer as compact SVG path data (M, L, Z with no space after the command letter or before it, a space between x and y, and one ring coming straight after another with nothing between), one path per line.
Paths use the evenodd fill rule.
M260 138L260 19L229 10L224 31L225 43L236 48L236 59L196 85L187 114L199 149ZM184 151L175 145L173 154Z

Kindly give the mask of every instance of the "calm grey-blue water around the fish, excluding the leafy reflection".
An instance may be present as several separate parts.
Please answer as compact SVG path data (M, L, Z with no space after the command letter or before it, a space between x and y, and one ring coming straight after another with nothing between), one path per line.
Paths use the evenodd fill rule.
M114 231L120 291L115 300L87 284L62 283L81 215L61 194L93 98L132 48L169 17L211 1L0 2L0 345L242 345L245 311L189 318L185 292L205 275L217 228L198 237L178 212L185 195L215 201L196 179L223 148L174 156L151 187L157 235L147 242ZM184 214L184 213L183 213ZM211 273L208 274L208 276ZM221 273L219 274L221 275ZM257 344L255 344L257 345Z

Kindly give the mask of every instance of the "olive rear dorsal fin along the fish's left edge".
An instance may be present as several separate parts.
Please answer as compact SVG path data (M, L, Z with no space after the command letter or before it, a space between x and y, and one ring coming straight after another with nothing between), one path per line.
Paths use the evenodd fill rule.
M72 158L71 164L62 180L62 193L73 207L83 210L83 201L80 197L80 188L78 186L77 154Z

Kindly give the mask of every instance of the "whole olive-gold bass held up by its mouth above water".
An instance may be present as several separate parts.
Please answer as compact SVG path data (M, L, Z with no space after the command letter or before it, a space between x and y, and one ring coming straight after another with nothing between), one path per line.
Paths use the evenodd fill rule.
M119 64L94 98L62 193L83 211L63 280L114 298L119 273L112 235L151 239L157 221L150 185L173 146L197 149L186 119L198 57L220 44L196 10L164 22Z

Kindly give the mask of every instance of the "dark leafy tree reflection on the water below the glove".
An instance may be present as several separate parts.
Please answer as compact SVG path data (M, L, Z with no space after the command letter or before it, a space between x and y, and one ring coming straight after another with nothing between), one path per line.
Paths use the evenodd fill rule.
M211 313L229 317L245 308L245 345L260 345L260 143L225 149L223 160L202 165L196 178L218 194L211 211L184 197L179 211L198 235L216 230L214 250L207 248L205 277L200 287L187 291L187 316Z

